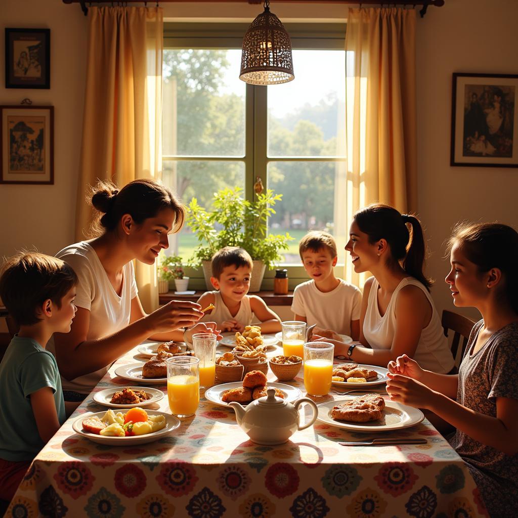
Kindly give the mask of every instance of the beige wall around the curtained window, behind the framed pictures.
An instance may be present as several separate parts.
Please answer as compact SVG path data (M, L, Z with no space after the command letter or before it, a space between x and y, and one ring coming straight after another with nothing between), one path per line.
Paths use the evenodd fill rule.
M163 7L165 17L175 20L245 21L261 11L246 3ZM284 21L336 21L347 16L344 5L272 2L272 11ZM433 295L439 310L453 307L442 282L448 269L442 243L450 227L459 219L498 220L518 227L518 170L449 166L452 73L518 73L517 19L515 0L449 0L444 7L430 7L418 21L419 213L432 252L428 272L438 280ZM52 41L51 90L6 90L2 78L0 104L18 104L30 97L34 104L52 104L55 109L55 184L0 185L0 254L31 246L54 253L74 239L86 19L78 5L61 0L1 0L0 20L2 28L49 27ZM2 36L0 55L3 45Z

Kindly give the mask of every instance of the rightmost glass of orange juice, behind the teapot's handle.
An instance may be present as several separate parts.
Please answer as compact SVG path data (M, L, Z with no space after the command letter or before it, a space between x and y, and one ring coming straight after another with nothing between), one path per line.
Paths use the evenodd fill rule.
M329 342L304 344L304 386L310 396L325 396L331 388L335 346Z

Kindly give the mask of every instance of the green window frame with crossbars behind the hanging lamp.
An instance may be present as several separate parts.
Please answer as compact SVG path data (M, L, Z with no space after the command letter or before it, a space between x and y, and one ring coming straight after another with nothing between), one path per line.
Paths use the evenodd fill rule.
M306 50L343 50L345 48L345 23L285 23L290 34L293 49ZM164 49L240 49L242 39L249 24L243 23L164 23ZM296 70L295 70L296 73ZM296 79L295 79L296 80ZM246 137L245 154L239 157L220 156L178 156L163 155L166 161L239 161L245 167L244 195L252 200L253 185L260 177L265 189L268 188L268 162L338 162L345 157L325 156L268 156L267 154L267 87L246 85ZM293 290L301 282L307 281L308 276L303 266L293 264L280 265L287 268L290 279L289 287ZM341 277L343 265L336 266L336 274ZM185 272L190 277L191 289L205 289L202 268L188 268ZM275 270L266 271L262 290L273 289Z

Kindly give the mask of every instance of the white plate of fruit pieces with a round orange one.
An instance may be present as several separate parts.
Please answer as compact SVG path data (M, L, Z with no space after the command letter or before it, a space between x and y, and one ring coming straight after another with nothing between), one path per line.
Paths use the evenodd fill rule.
M128 446L145 444L169 435L180 426L174 415L143 408L126 408L115 413L89 412L72 424L74 431L100 444Z

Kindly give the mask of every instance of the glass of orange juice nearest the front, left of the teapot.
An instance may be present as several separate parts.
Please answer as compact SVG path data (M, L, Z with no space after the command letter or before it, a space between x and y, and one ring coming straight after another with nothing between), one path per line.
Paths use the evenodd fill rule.
M179 418L193 415L199 405L199 359L167 358L167 397L171 413Z

